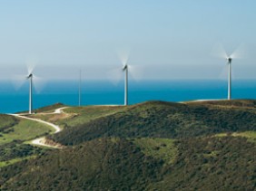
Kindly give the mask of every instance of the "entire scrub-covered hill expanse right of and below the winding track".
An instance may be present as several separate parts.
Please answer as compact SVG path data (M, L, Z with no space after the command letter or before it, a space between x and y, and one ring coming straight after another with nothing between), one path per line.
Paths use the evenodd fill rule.
M69 147L21 148L37 158L0 168L2 190L256 188L255 100L151 101L37 117L61 124L49 138Z

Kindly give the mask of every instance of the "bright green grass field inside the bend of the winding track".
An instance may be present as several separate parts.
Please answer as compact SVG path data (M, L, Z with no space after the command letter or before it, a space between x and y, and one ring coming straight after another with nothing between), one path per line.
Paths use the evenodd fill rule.
M18 124L12 127L7 133L1 133L0 145L12 142L13 140L30 140L53 131L50 126L41 124L29 119L20 119Z

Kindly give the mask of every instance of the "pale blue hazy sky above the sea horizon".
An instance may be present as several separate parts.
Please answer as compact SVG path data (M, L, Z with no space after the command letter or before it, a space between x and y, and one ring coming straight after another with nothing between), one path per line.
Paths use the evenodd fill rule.
M0 79L25 73L27 62L45 79L107 79L121 65L117 52L143 68L143 79L255 79L256 2L253 0L9 0L0 3Z

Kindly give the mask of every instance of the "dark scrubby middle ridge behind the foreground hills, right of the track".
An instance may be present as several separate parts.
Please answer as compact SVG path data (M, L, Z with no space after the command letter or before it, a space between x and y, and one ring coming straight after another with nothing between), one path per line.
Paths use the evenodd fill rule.
M222 132L256 130L254 108L217 108L208 103L180 104L145 102L115 111L97 119L84 118L74 124L66 119L66 128L51 138L64 145L75 145L103 137L120 138L192 138Z

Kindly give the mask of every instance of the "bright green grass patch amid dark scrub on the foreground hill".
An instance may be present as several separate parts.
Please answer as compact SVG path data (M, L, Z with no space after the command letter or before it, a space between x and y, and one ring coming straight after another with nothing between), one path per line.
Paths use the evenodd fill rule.
M170 138L134 138L133 143L146 156L162 159L167 164L172 164L177 157L177 148Z

